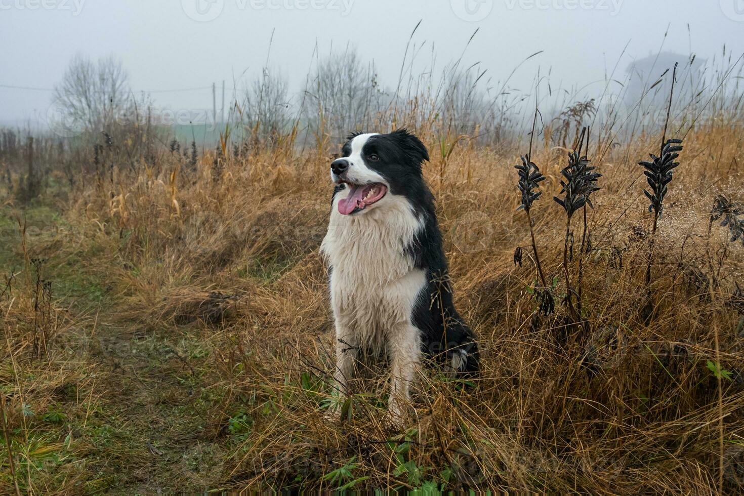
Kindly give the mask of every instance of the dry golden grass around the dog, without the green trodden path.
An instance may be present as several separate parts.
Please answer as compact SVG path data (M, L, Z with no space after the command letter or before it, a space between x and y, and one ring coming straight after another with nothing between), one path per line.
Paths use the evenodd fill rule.
M421 135L434 149L434 136L426 130ZM591 146L603 178L589 210L584 327L567 321L560 298L565 218L551 196L559 193L567 150L547 141L533 150L547 180L531 214L545 277L555 280L557 309L542 317L531 294L536 271L530 234L524 214L516 211L513 165L526 149L455 146L446 164L432 153L426 176L437 197L456 303L481 344L482 372L475 387L463 389L427 367L400 431L384 422L379 376L360 380L347 422L323 419L333 347L318 246L329 207L330 154L262 150L228 157L220 167L211 167L208 154L196 172L186 172L165 153L157 167L117 168L64 202L70 228L60 250L88 253L86 266L112 286L103 313L116 332L185 335L198 343L199 352L179 351L168 360L170 373L198 376L199 387L170 384L158 401L188 406L200 419L200 431L169 438L177 450L190 453L202 443L211 451L199 462L207 468L168 469L161 481L167 489L348 484L432 494L437 487L740 492L744 333L735 292L744 274L743 248L728 241L727 228L717 222L710 227L710 212L717 194L744 198L741 129L711 125L687 135L659 221L647 291L651 217L637 162L659 141L641 136L600 153ZM580 219L573 228L569 268L577 286ZM513 262L518 246L522 267ZM31 302L28 293L0 299L8 369L3 378L39 364L19 344L31 342L29 330L18 324L33 321ZM92 367L96 352L65 372L60 363L69 361L60 362L55 353L74 341L70 326L92 329L97 315L68 318L71 323L57 329L42 354L44 367L57 367L45 377L59 384L96 381L83 368ZM723 373L716 377L713 370ZM89 384L78 390L116 403L115 379L102 380L103 389ZM43 391L29 381L3 384L11 431L23 429L21 395L50 398L54 381ZM87 456L82 446L77 449ZM115 466L129 471L147 460L124 457ZM71 478L46 489L80 489ZM135 487L141 490L155 487L140 480ZM23 484L45 492L43 483Z

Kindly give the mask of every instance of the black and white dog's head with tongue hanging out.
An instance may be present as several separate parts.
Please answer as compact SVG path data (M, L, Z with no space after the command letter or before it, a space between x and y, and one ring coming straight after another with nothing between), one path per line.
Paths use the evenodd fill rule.
M350 135L341 158L330 164L331 180L349 190L339 199L339 213L359 213L384 204L388 191L405 194L411 184L420 183L425 160L429 160L426 146L405 129L387 135Z

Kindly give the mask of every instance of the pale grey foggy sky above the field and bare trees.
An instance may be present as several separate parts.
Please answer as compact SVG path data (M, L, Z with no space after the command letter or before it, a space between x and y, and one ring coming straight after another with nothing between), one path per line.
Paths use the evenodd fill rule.
M158 106L211 108L209 89L173 90L252 80L272 30L269 65L292 88L301 88L316 43L321 56L331 43L356 46L394 88L420 19L420 57L429 61L433 43L440 67L476 28L464 59L494 80L544 51L519 68L516 87L529 86L538 68L551 70L554 86L603 80L626 45L623 71L662 46L707 59L723 45L734 59L744 51L744 0L0 0L0 123L34 120L51 101L50 91L1 85L52 88L78 52L121 57L130 86L155 91Z

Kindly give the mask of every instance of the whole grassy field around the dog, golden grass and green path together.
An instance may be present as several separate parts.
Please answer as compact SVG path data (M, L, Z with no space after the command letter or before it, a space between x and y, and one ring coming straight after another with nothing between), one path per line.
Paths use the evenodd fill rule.
M601 189L568 242L552 197L570 150L536 139L544 285L516 210L525 141L419 132L482 371L464 387L425 367L403 428L385 422L379 374L355 385L349 419L324 420L335 146L225 147L196 165L163 147L132 165L113 141L66 151L28 203L14 173L0 190L0 492L741 492L740 123L667 135L684 150L655 232L638 161L661 129L592 135ZM719 195L731 205L713 221Z

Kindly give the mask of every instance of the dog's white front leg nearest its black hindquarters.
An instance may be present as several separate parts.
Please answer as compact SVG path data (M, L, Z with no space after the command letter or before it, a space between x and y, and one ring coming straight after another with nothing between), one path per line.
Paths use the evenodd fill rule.
M388 411L392 421L403 423L404 405L411 396L411 384L416 376L421 358L420 332L409 323L397 326L391 332L388 358L391 364L391 391Z

